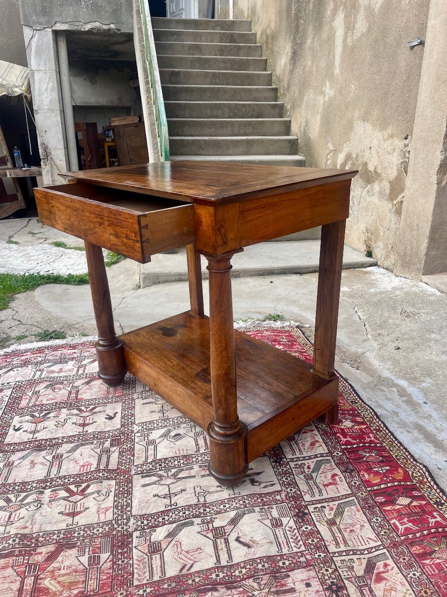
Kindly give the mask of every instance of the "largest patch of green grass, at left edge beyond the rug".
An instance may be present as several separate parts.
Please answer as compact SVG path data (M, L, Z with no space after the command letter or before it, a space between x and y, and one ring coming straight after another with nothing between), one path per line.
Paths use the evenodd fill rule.
M88 273L0 273L0 311L7 309L14 294L36 290L44 284L88 284Z

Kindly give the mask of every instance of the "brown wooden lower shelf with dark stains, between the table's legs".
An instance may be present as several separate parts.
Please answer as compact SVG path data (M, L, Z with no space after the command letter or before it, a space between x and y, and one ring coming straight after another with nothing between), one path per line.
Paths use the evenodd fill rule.
M202 429L213 417L209 319L181 313L120 336L128 371ZM238 414L249 461L337 404L338 380L235 331Z

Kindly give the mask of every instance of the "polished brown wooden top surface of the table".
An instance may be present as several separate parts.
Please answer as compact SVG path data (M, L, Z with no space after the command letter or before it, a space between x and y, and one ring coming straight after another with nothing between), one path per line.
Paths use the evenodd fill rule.
M216 205L352 179L356 174L357 170L179 160L81 170L61 176L146 195Z

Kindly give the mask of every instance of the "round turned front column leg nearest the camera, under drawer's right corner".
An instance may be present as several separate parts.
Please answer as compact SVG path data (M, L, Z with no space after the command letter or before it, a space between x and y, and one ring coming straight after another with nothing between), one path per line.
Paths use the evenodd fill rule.
M210 291L210 374L213 420L209 471L221 485L231 487L246 475L247 428L237 414L236 364L231 300L231 254L208 260Z

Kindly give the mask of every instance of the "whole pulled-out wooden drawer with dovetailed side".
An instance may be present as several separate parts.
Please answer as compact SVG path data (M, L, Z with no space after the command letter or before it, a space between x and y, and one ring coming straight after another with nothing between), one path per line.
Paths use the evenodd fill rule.
M190 203L84 183L34 191L42 224L140 263L195 239Z

